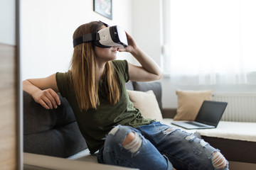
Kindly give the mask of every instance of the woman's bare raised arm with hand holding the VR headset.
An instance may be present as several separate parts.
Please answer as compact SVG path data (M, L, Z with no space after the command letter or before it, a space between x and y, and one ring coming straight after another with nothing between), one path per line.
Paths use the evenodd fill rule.
M154 60L143 52L127 33L128 47L120 48L119 52L130 52L142 66L129 63L129 77L131 81L154 81L161 79L163 72Z

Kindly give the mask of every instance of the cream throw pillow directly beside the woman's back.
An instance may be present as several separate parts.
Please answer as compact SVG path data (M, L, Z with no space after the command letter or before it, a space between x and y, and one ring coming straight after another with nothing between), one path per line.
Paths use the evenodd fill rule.
M129 91L127 90L129 99L134 104L134 108L139 108L145 118L156 119L162 121L163 117L156 101L156 96L153 91Z

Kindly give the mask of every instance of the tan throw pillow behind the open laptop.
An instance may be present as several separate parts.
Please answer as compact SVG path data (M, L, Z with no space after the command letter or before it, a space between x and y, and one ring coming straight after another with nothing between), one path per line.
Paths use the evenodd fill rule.
M203 101L210 101L211 90L181 91L176 90L178 98L177 114L174 120L195 120Z

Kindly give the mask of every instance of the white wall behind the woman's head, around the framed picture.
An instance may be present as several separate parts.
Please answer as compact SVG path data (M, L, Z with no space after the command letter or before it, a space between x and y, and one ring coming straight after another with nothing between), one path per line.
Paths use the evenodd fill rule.
M21 0L21 79L68 70L73 32L90 21L122 26L132 33L131 1L112 0L112 20L93 11L92 0ZM119 54L131 60L130 55Z

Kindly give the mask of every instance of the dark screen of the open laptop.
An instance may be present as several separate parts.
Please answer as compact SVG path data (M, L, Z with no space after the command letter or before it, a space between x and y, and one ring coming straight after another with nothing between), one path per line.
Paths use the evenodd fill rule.
M217 126L228 103L220 101L203 101L196 116L196 122Z

